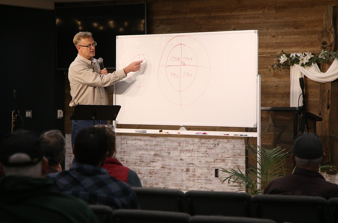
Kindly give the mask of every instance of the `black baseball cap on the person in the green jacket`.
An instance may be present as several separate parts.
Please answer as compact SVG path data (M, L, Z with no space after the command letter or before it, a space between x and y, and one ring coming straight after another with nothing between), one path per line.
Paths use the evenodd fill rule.
M23 156L16 158L18 154ZM0 146L0 163L4 166L35 165L44 156L45 153L41 147L39 136L25 129L19 129L8 135Z

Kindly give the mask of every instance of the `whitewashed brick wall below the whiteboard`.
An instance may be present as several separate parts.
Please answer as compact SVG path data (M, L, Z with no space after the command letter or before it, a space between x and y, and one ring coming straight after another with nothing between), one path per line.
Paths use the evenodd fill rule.
M70 138L66 134L66 169L73 161ZM215 178L215 169L245 170L244 138L118 134L116 146L116 157L138 173L143 187L235 191L237 187L221 184L221 171ZM327 181L338 183L337 174L322 174Z

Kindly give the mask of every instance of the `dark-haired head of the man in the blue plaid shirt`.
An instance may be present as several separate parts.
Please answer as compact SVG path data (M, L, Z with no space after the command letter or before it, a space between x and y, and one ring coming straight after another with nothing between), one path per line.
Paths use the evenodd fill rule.
M94 126L81 129L75 138L73 153L76 163L102 166L108 153L106 131Z

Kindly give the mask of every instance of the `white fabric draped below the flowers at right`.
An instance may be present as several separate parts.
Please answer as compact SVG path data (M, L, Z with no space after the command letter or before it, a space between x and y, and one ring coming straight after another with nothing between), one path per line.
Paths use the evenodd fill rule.
M290 67L290 107L298 107L303 105L303 98L298 98L301 94L299 86L299 77L304 75L312 81L321 83L331 82L338 78L338 60L335 59L330 68L325 72L321 72L317 64L312 64L311 67L302 67L293 65Z

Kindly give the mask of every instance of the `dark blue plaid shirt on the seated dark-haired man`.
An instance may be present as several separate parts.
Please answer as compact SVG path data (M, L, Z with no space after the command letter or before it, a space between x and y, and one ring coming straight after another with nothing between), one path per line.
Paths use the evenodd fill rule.
M109 176L107 170L74 163L69 170L46 175L57 190L89 204L103 204L115 209L140 209L135 193L126 183Z

